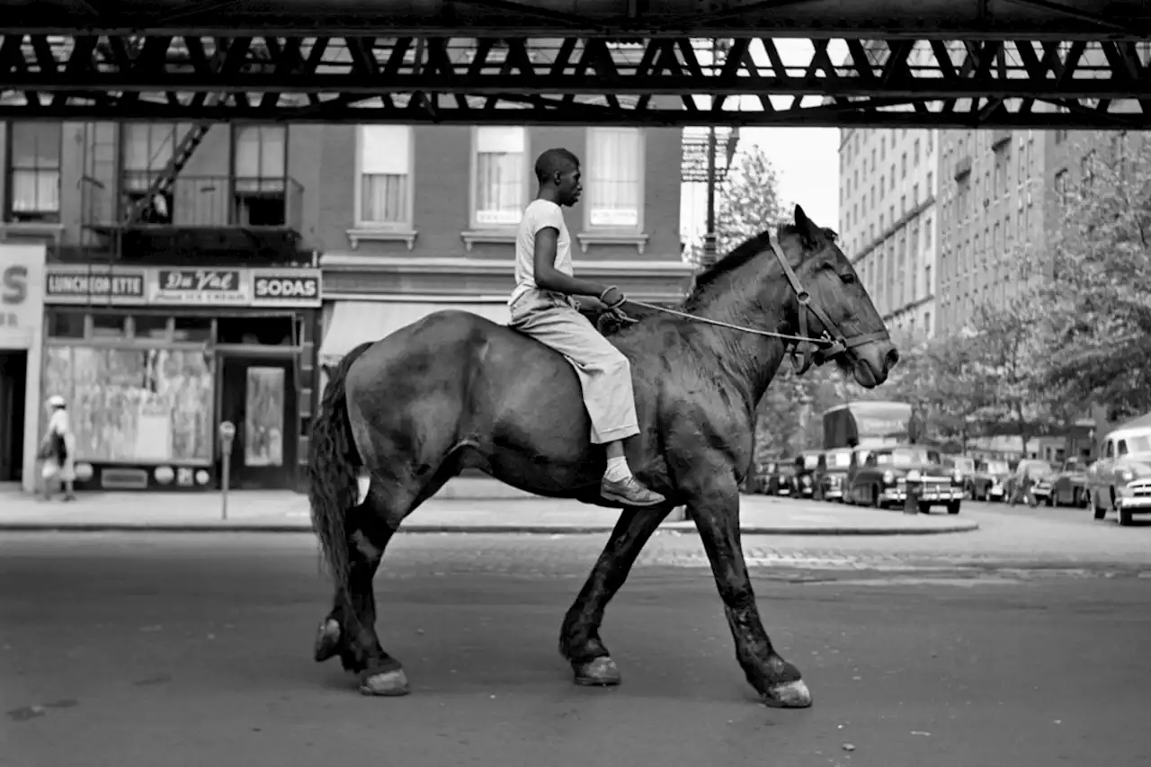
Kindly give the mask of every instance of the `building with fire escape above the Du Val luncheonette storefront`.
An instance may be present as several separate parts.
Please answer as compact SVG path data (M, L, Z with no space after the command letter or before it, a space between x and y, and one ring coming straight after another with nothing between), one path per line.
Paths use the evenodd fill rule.
M235 487L298 487L315 403L322 128L0 131L0 236L47 249L35 402L68 402L77 487L214 488L224 462Z

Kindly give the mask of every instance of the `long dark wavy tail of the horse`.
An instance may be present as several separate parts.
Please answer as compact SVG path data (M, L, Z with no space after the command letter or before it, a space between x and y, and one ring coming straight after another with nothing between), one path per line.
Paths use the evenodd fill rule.
M307 499L312 506L312 529L320 539L320 550L331 570L337 588L348 588L351 561L344 518L356 506L356 470L359 451L348 417L348 393L344 379L348 370L374 342L368 341L349 351L331 369L328 386L320 398L320 412L312 422L308 451Z

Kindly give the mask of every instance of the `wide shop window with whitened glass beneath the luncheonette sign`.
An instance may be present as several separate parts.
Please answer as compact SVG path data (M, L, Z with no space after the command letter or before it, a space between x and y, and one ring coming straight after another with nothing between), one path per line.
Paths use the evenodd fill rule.
M212 356L200 349L44 350L46 394L71 410L76 457L124 463L207 462L215 397Z

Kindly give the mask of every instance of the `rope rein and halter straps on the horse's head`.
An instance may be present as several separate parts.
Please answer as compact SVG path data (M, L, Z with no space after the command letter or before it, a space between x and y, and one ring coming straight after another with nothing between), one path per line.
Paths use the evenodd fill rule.
M792 290L795 291L795 297L799 301L799 335L773 333L771 331L762 331L760 328L747 327L745 325L734 325L732 322L723 322L721 320L708 319L706 317L696 317L695 314L688 314L687 312L676 311L674 309L665 309L663 306L648 304L642 301L633 301L631 298L626 298L624 303L663 312L664 314L671 314L672 317L680 317L693 322L715 325L716 327L726 328L729 331L750 333L753 335L779 339L782 341L791 341L790 348L787 348L787 354L791 357L792 366L800 375L806 373L811 367L813 362L815 362L816 365L822 365L828 359L831 359L832 357L836 357L853 347L859 347L872 341L883 341L890 337L886 329L875 333L863 333L851 339L846 337L839 331L839 326L836 325L830 317L828 317L828 313L823 311L821 306L811 303L811 294L803 289L803 284L799 281L799 275L795 274L791 264L787 263L787 258L779 248L779 241L776 238L776 235L769 235L769 245L771 248L771 252L775 253L776 260L779 261L779 266L783 267L784 276L787 278L787 282L791 283ZM816 318L818 318L818 320L823 324L824 331L822 335L813 336L808 332L808 312L803 311L805 309L815 314Z

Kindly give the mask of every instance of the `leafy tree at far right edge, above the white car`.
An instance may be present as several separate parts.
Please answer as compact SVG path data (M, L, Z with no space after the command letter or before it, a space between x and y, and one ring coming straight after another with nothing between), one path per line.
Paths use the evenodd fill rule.
M1115 134L1058 190L1061 227L1031 259L1047 279L1039 387L1114 417L1151 410L1151 143Z

